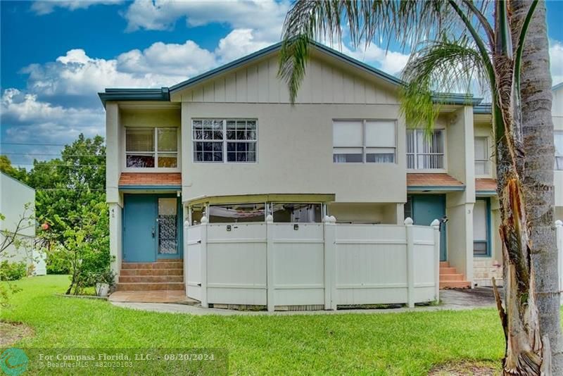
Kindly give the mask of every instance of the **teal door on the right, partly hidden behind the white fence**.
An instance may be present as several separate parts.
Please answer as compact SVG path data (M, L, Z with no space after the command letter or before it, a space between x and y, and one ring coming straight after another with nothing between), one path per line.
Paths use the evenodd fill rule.
M417 194L409 196L412 220L415 225L429 226L433 220L441 220L445 216L445 195ZM440 227L440 261L448 259L446 253L445 223Z

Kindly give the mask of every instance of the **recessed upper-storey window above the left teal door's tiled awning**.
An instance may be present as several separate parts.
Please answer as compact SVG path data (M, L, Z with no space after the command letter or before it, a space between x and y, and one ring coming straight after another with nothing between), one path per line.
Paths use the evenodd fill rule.
M177 128L125 128L126 168L177 168Z

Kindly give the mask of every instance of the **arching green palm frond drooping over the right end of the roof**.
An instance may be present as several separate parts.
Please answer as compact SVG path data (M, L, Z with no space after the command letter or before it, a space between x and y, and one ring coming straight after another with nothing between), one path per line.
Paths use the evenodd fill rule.
M468 37L461 37L424 43L410 57L403 80L407 84L400 89L401 113L407 127L429 131L441 106L434 101L436 92L469 94L476 82L487 87L488 75L479 51Z

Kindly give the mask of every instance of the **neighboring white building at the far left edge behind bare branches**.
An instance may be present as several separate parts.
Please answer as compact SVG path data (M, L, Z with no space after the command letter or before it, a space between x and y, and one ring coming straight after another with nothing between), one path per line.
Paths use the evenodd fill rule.
M27 208L26 208L27 206ZM0 173L0 213L4 220L0 221L0 242L4 241L4 231L14 232L20 218L29 218L35 212L35 189L23 184L13 177ZM9 263L25 261L34 265L34 275L45 275L46 265L43 257L34 251L35 221L25 220L20 225L21 246L11 245L0 255L0 261Z

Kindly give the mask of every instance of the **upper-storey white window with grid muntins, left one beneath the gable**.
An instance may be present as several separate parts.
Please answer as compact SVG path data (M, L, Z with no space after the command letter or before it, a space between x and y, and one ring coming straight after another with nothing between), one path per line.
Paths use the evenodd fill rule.
M191 120L194 162L253 163L257 139L255 119Z

